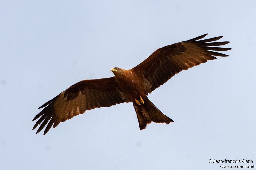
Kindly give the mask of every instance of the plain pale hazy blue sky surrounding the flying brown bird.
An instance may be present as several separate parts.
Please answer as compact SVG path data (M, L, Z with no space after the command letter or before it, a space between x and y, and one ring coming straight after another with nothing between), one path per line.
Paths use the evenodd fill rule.
M0 169L219 169L256 164L256 1L1 1ZM86 111L43 136L38 107L157 48L209 33L233 48L148 97L174 123L139 130L132 103ZM235 165L253 165L235 164Z

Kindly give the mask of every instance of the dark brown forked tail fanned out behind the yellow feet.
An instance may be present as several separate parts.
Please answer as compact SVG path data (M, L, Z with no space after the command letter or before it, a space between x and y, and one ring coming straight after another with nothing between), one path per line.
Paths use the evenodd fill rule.
M146 129L147 124L151 121L155 123L166 123L169 124L173 122L172 119L164 115L156 106L148 99L144 100L144 104L138 105L133 102L134 109L139 122L140 130Z

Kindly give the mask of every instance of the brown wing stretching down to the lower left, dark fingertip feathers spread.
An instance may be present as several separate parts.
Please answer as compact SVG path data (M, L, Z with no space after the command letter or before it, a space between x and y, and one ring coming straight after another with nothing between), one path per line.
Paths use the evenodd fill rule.
M33 119L34 121L40 117L33 130L42 123L36 132L38 133L49 122L44 130L45 134L52 125L55 128L60 122L82 114L85 110L124 102L130 102L130 99L118 89L114 77L83 80L39 107L45 108Z

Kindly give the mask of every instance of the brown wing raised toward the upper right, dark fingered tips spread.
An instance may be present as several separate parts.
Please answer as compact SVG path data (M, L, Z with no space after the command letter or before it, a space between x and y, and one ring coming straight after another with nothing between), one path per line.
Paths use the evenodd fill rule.
M207 60L214 60L216 59L214 56L227 57L226 54L214 51L227 51L231 48L212 46L225 45L229 42L212 42L219 40L222 36L199 40L206 35L159 48L131 70L142 72L151 83L151 91L153 91L182 70L205 63Z

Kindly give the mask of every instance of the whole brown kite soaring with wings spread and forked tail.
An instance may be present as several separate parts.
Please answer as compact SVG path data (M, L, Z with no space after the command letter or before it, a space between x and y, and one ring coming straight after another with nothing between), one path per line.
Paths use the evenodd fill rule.
M140 130L145 129L152 121L166 124L173 122L158 110L147 96L182 70L205 63L207 60L214 60L215 56L228 56L214 52L230 50L231 48L214 47L228 44L228 41L212 42L222 36L199 40L206 35L159 48L132 69L112 68L110 71L113 72L113 77L82 80L70 86L39 107L45 108L33 119L34 121L39 118L33 129L41 123L36 132L38 133L48 123L44 130L45 135L52 125L55 128L60 122L86 110L124 102L132 102Z

